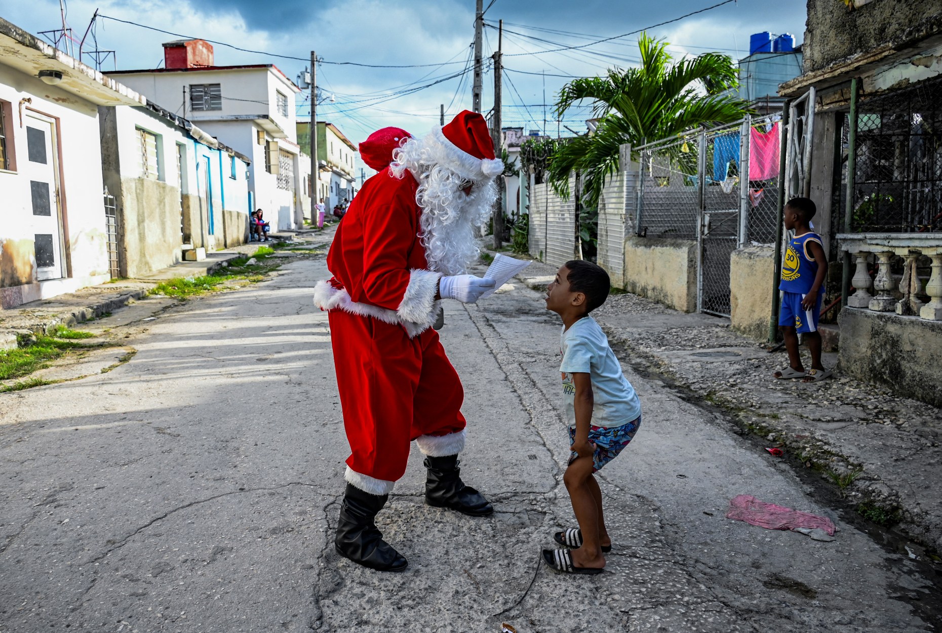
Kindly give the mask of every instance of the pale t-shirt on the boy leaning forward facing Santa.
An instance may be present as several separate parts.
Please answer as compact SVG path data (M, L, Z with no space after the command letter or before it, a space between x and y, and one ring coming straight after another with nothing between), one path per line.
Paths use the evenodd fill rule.
M582 317L560 334L562 397L566 421L576 428L576 382L573 372L590 374L593 427L620 427L642 414L635 388L625 379L622 365L609 347L609 338L593 317Z

